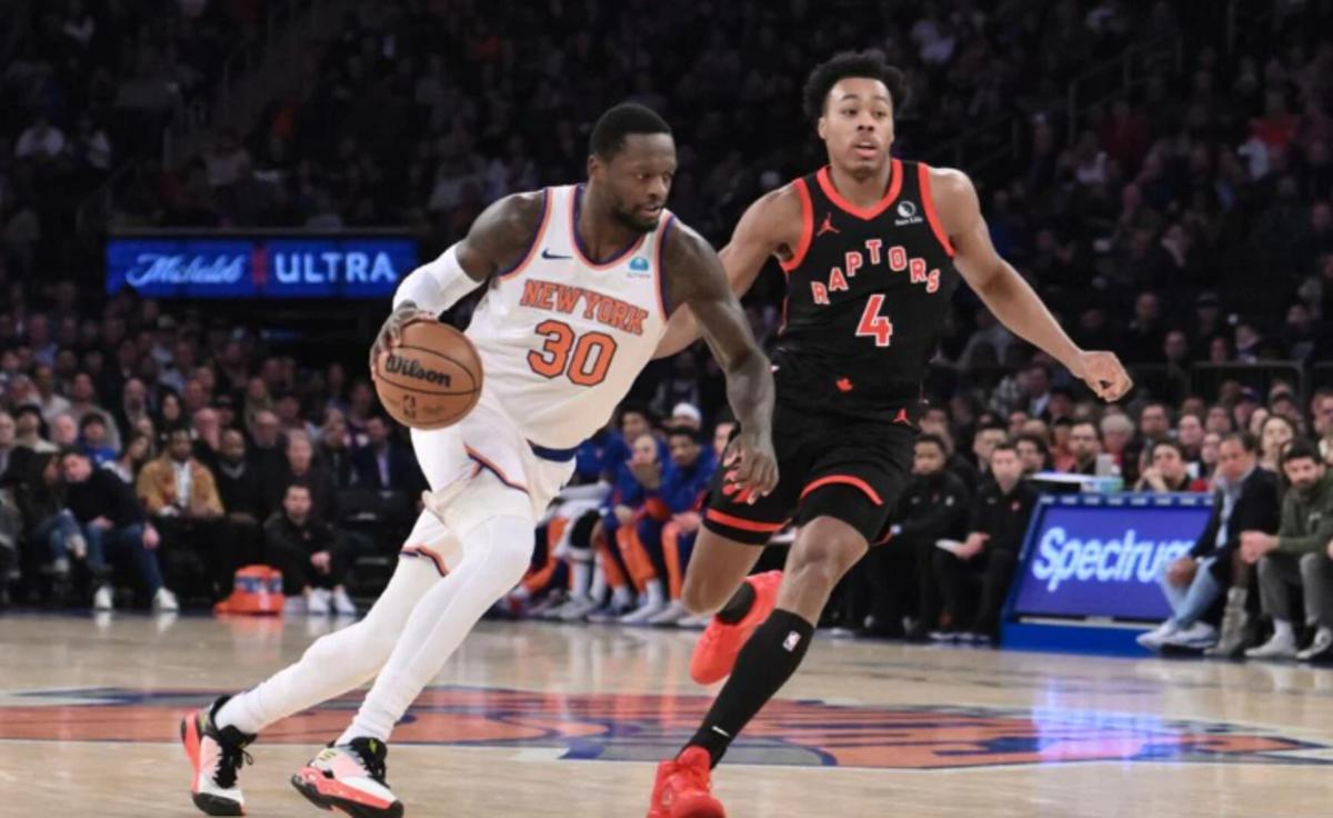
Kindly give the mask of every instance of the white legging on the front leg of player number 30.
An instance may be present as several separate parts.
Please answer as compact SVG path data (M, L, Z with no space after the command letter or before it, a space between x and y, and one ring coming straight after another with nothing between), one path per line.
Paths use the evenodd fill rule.
M528 518L495 516L460 536L461 564L417 603L384 670L336 743L361 737L389 741L393 725L440 674L468 631L523 579L532 560L532 531Z

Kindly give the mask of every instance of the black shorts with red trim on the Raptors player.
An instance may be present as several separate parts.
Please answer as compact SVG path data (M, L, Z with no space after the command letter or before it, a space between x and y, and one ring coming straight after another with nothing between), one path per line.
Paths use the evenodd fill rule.
M773 410L778 483L749 504L730 468L720 466L708 498L704 527L740 543L764 546L796 522L832 516L866 542L884 530L912 478L916 407L896 420L862 420L782 406Z

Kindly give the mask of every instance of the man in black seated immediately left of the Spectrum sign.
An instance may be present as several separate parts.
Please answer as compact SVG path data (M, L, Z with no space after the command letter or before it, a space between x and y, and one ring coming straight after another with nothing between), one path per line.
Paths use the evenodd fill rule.
M948 625L936 637L990 642L1000 634L1000 608L1018 564L1028 518L1037 491L1022 479L1022 460L1010 443L990 452L990 476L972 502L968 538L957 551L938 550L934 570ZM969 604L966 586L978 583L981 596ZM974 608L974 610L973 610Z

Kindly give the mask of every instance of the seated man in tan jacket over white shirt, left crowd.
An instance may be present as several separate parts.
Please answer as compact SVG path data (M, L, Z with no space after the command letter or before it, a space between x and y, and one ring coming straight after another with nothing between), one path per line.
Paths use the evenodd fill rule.
M139 472L136 490L163 543L197 554L207 574L207 594L220 599L231 591L239 566L232 543L223 536L217 484L192 451L189 430L177 426L168 432L161 456Z

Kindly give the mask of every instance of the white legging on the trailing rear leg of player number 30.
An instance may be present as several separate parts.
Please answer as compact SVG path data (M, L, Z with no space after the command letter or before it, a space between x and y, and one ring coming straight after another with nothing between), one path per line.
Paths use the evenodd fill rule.
M364 685L389 658L412 608L439 584L440 574L429 560L400 559L365 619L321 637L299 662L232 697L217 711L217 726L255 734Z

